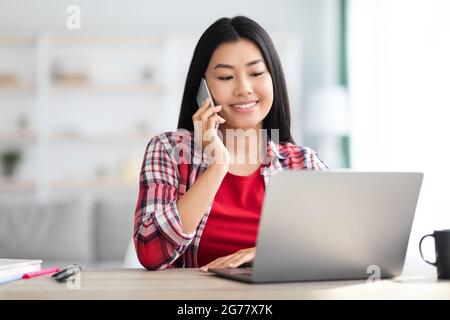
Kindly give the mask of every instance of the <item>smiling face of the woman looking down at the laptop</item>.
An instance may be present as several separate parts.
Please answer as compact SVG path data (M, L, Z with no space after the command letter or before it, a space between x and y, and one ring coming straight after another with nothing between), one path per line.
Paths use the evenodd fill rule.
M206 82L227 128L261 128L273 102L272 77L259 48L247 39L222 43L211 56Z

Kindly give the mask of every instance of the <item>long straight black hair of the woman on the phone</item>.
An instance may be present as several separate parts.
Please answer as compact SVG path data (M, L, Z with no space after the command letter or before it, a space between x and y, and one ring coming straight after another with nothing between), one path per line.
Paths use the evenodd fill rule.
M258 23L244 16L221 18L200 37L186 78L178 129L194 131L192 116L198 110L197 91L214 50L224 42L235 42L242 38L252 41L259 47L272 76L273 104L263 120L263 129L267 130L269 137L271 129L278 129L279 142L294 143L291 135L289 99L280 58L267 32Z

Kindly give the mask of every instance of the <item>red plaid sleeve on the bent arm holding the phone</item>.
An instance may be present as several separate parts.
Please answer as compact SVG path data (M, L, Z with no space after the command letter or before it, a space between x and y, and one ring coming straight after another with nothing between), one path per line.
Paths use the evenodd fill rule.
M149 270L172 267L195 236L182 231L177 207L179 172L168 147L169 142L154 137L140 173L134 242L139 261Z

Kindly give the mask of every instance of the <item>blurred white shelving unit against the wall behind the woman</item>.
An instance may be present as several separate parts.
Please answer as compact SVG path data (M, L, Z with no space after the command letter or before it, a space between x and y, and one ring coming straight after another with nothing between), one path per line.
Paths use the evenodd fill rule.
M173 126L165 124L176 116L168 106L180 102L195 41L192 35L166 33L0 33L0 152L23 149L28 156L25 148L34 147L32 180L0 173L0 192L31 192L38 197L55 192L135 193L136 167L149 139L160 127ZM180 55L186 61L180 63ZM32 100L17 99L21 97ZM115 109L108 112L108 108ZM92 114L92 109L106 112ZM131 116L122 121L122 112ZM17 120L24 115L24 121ZM111 117L116 119L108 124ZM83 119L91 121L88 128L101 121L102 130L86 133ZM104 148L110 147L112 157L117 157L113 167L104 159L109 152ZM90 157L75 177L69 169L73 164L65 162L68 149ZM64 150L61 158L59 150ZM109 175L103 176L105 172Z

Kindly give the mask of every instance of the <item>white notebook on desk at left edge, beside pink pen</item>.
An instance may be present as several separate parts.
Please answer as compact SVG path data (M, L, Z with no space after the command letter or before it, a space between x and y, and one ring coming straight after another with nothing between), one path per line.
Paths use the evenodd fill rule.
M20 279L25 273L41 270L42 260L0 259L0 284Z

